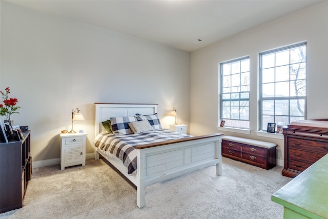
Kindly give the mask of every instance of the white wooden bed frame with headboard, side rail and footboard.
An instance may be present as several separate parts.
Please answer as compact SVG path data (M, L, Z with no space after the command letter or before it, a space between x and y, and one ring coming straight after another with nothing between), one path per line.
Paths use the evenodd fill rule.
M136 113L149 115L157 112L157 104L95 103L95 107L96 135L104 131L101 122L111 117L135 116ZM98 160L101 154L137 187L137 206L142 208L145 206L146 186L212 165L216 165L216 174L221 175L221 136L222 134L217 133L135 146L138 154L135 175L129 175L127 168L118 158L108 156L96 147L95 159Z

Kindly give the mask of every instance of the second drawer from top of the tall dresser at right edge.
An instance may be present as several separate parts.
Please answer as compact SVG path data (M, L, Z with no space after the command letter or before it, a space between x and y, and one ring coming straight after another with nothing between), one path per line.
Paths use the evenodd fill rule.
M315 140L304 140L296 137L289 137L288 144L290 149L313 151L317 153L328 153L328 143L315 141Z

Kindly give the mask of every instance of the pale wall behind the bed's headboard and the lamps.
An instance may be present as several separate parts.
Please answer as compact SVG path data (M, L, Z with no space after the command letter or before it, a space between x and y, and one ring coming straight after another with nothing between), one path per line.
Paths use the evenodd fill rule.
M189 52L1 1L0 70L0 90L22 107L15 124L31 129L33 162L60 157L76 107L86 121L74 129L88 132L92 153L96 102L157 103L165 128L176 107L189 125Z

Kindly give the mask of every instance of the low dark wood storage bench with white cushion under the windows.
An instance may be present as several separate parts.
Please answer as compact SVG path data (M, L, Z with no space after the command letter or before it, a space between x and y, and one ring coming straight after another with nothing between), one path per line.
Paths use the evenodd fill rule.
M276 147L274 143L249 138L222 137L222 156L267 170L276 166Z

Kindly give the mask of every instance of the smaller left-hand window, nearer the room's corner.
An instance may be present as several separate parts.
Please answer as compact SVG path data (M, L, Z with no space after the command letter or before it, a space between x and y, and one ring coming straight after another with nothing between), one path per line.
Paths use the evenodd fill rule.
M224 126L250 128L250 58L220 63L221 119Z

